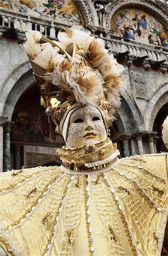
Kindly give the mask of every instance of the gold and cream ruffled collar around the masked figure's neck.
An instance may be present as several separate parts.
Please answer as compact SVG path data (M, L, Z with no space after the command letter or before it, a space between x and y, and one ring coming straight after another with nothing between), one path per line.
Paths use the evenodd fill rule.
M57 155L69 172L99 172L114 164L120 152L117 150L117 144L107 138L76 148L63 146L58 148Z

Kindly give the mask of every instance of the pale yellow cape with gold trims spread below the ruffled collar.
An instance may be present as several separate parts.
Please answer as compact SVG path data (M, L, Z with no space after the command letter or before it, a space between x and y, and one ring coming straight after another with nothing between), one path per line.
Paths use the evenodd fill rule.
M59 167L1 174L0 241L8 255L160 255L167 155L131 156L100 174Z

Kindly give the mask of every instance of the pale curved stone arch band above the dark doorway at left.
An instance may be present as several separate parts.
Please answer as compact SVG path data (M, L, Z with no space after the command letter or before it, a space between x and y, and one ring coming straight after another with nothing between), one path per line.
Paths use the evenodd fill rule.
M5 105L9 95L8 92L11 93L16 82L30 70L31 70L31 64L29 63L29 61L25 61L23 64L17 67L6 80L5 85L3 85L3 89L0 94L0 106L1 106L0 114L1 115L5 115L4 113L7 113L5 110L6 108Z

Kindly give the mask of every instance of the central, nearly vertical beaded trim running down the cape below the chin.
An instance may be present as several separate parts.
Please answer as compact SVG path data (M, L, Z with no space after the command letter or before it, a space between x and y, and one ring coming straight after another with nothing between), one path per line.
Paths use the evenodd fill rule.
M84 201L85 201L85 221L87 225L87 233L88 233L88 245L90 255L94 256L95 247L93 241L93 227L92 227L92 219L91 219L91 189L89 186L88 175L84 176Z

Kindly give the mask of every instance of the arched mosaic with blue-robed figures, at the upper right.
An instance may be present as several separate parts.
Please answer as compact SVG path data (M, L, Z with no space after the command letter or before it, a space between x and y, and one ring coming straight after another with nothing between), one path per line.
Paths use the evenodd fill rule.
M168 47L168 34L156 18L138 9L117 11L111 19L114 35L122 38Z

